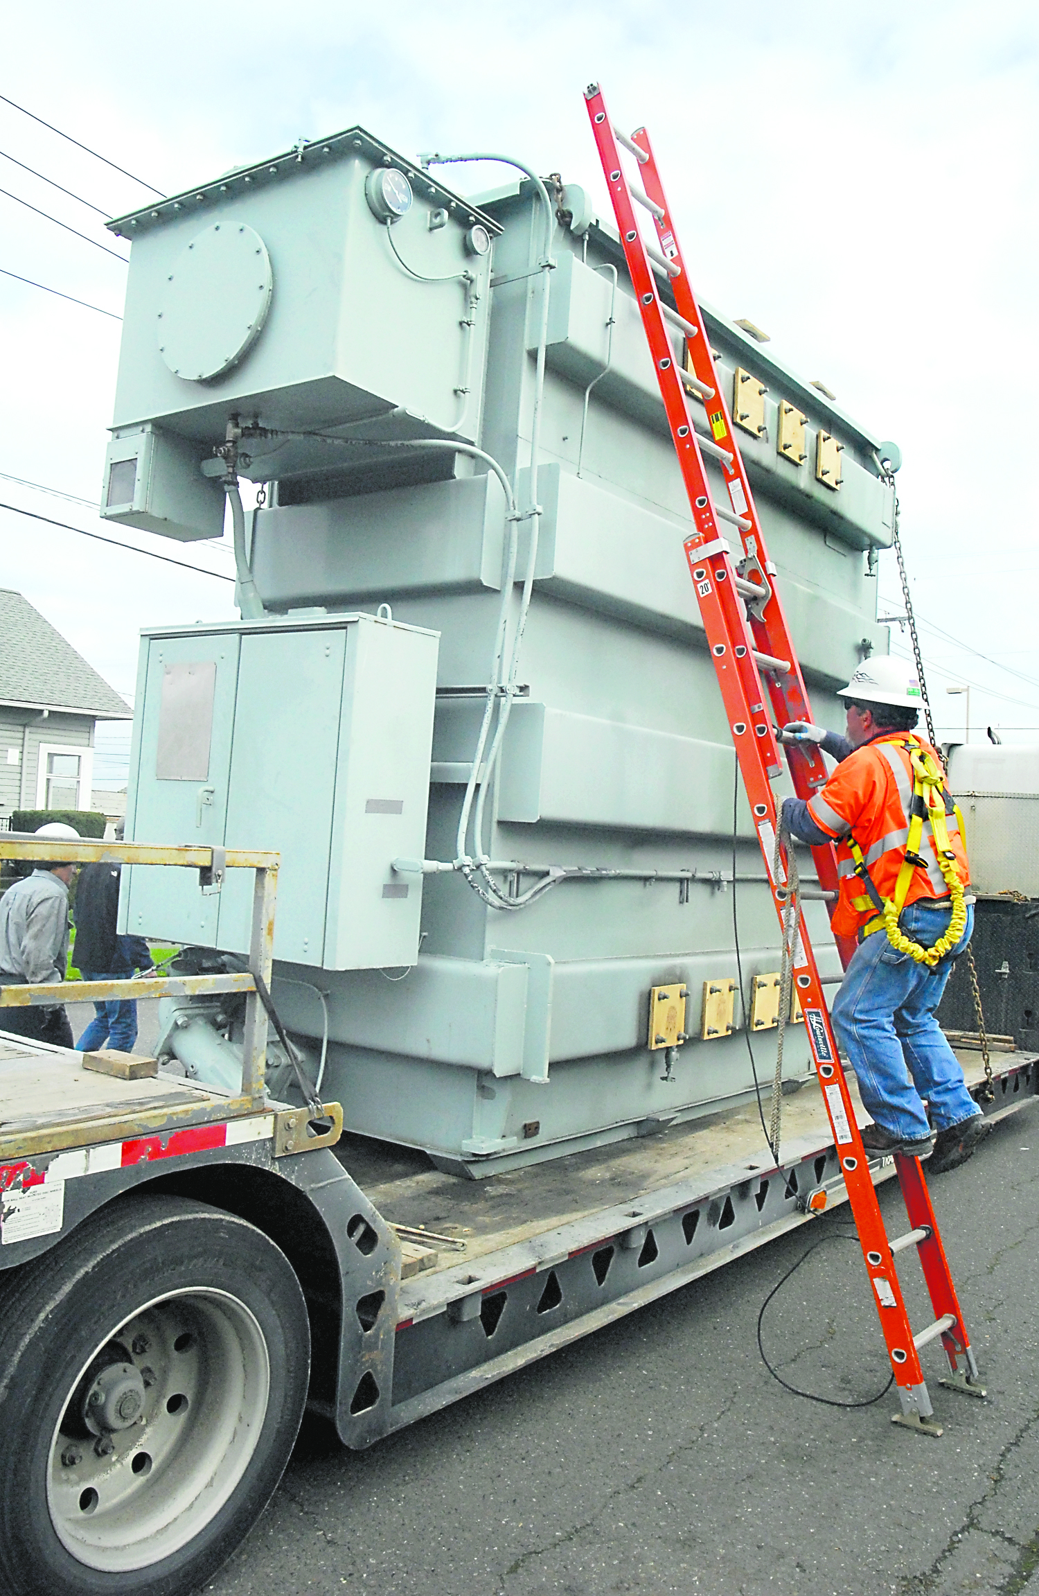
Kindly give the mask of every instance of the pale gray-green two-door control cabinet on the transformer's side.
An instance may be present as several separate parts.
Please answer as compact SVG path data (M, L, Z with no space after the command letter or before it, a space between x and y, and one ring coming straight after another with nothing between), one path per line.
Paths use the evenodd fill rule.
M412 964L437 634L370 614L150 632L128 838L281 854L275 954L327 970ZM252 841L247 841L247 839ZM252 883L126 870L123 929L249 948Z

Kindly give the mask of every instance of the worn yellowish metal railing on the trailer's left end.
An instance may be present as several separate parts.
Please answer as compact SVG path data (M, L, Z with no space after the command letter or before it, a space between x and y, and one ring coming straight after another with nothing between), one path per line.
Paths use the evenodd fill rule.
M65 843L61 838L24 838L0 833L0 859L61 862L73 865L179 865L198 870L200 886L220 891L225 870L255 870L249 970L231 975L128 977L110 982L49 982L0 986L3 1009L53 1007L65 1001L107 1002L112 998L188 998L201 993L246 993L241 1098L225 1101L220 1117L246 1112L265 1103L267 1007L275 958L275 900L279 854L239 847L166 847L152 843ZM270 999L268 999L270 1001Z

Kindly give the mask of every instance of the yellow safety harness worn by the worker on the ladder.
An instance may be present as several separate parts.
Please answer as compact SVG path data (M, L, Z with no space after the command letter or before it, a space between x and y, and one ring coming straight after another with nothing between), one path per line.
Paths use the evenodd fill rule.
M855 860L855 875L862 879L868 894L868 897L852 899L851 907L859 911L867 908L876 910L875 918L862 927L863 937L870 937L875 930L886 930L892 948L897 948L899 953L908 953L918 964L927 964L934 969L938 959L943 959L945 954L956 946L967 929L967 900L962 881L959 879L959 873L956 870L956 854L950 846L946 816L956 817L961 836L964 835L964 825L959 809L946 792L945 776L934 757L926 753L915 742L903 742L902 747L908 753L910 764L913 768L913 798L910 803L910 835L905 843L905 854L895 881L895 892L891 899L883 899L879 895L859 843L854 836L849 836L847 843L852 859ZM927 860L919 852L919 844L924 836L924 822L930 825L938 870L948 884L953 900L953 913L948 929L942 937L938 937L932 948L924 948L919 942L913 942L913 938L907 937L899 926L910 891L910 883L913 879L913 871L927 868Z

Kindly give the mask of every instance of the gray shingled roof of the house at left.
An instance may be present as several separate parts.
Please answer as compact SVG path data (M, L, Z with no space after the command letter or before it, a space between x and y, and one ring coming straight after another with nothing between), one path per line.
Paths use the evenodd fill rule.
M132 720L115 688L10 587L0 587L0 704Z

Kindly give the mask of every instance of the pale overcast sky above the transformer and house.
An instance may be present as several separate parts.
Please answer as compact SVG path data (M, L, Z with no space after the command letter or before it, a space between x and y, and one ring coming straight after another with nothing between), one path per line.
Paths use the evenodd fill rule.
M597 78L621 124L650 126L701 297L766 329L779 359L900 444L940 733L962 734L964 697L945 688L970 683L975 728L1039 742L1034 5L53 0L43 32L41 16L6 14L0 94L164 193L361 121L407 155L500 148L562 171L608 215L581 93ZM0 188L126 254L96 211L10 158L107 214L147 188L3 101L0 152ZM0 217L0 268L118 316L118 260L5 195ZM89 508L120 322L0 276L0 500L228 575L223 546L131 533ZM0 583L128 697L139 627L233 613L212 576L10 511L0 536ZM889 555L879 592L881 613L900 608ZM118 761L99 782L110 774Z

